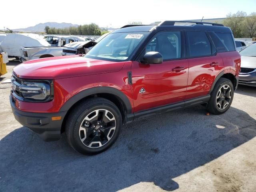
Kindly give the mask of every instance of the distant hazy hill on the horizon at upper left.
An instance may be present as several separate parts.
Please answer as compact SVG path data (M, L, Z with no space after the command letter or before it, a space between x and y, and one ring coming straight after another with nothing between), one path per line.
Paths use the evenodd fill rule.
M72 23L56 23L56 22L47 22L40 23L32 27L21 28L21 29L12 29L13 31L21 31L21 32L44 32L45 26L49 26L50 28L68 28L68 27L77 27L78 25Z

